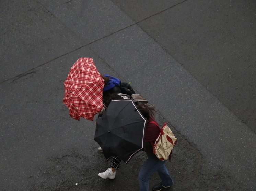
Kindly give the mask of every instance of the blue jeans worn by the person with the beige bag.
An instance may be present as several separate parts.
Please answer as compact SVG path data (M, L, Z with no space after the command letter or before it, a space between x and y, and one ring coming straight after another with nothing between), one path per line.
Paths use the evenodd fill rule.
M140 182L140 191L148 191L149 190L149 177L155 171L158 172L162 180L162 185L164 186L172 186L173 180L164 166L165 161L159 160L156 156L148 156L148 159L141 166L139 172L139 182Z

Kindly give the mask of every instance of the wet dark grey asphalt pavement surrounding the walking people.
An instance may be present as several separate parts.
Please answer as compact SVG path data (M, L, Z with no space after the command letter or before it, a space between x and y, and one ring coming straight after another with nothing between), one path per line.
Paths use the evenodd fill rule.
M1 0L0 24L1 191L139 190L146 155L100 178L110 162L94 122L62 103L81 57L131 82L171 126L163 191L256 189L255 1Z

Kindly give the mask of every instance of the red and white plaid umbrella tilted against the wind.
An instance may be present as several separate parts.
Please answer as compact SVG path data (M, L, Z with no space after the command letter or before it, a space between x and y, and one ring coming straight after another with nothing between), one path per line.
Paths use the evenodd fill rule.
M72 118L80 117L93 121L95 112L103 107L102 92L104 80L92 58L79 58L71 67L64 82L63 103Z

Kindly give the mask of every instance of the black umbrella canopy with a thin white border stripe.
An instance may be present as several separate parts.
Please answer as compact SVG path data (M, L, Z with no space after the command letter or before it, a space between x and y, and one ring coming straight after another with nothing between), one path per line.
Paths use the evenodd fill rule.
M118 156L128 163L144 146L146 120L133 100L112 100L102 117L96 119L94 140L108 160Z

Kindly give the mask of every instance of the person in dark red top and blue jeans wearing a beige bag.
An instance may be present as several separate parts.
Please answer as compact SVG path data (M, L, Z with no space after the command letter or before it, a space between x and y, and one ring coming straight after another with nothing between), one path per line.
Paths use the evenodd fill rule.
M159 177L161 178L161 182L156 184L152 191L159 191L163 188L168 188L173 185L173 180L165 167L165 161L159 160L155 154L153 154L152 144L155 142L158 137L160 130L159 127L150 123L154 121L149 115L149 108L147 106L139 106L138 107L143 116L147 119L145 137L144 137L144 150L148 156L148 159L141 166L139 172L139 183L140 183L140 191L148 191L149 190L149 177L155 172L158 172Z

